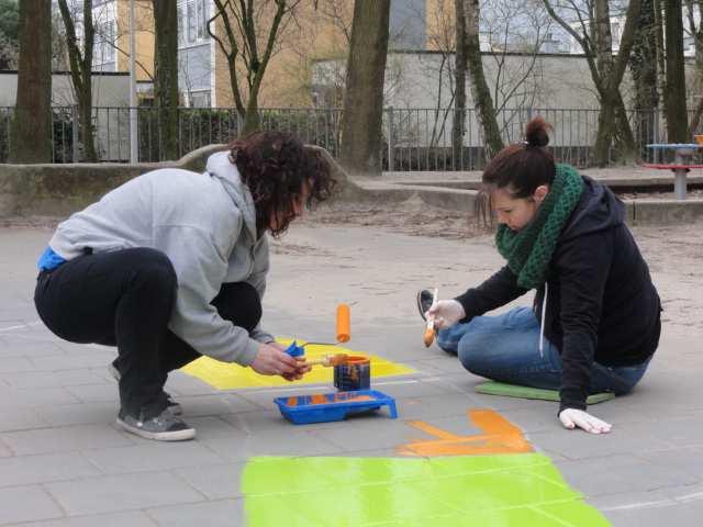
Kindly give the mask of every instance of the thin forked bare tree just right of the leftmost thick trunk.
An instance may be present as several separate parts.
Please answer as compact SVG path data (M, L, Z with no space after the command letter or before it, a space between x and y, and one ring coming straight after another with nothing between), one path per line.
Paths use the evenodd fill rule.
M79 47L76 34L76 22L67 0L58 0L58 9L66 27L66 43L68 46L68 59L70 64L70 78L78 102L78 113L80 120L80 142L83 148L83 159L97 161L98 154L94 145L94 133L92 125L92 48L94 38L94 27L92 23L92 0L82 2L82 51Z

